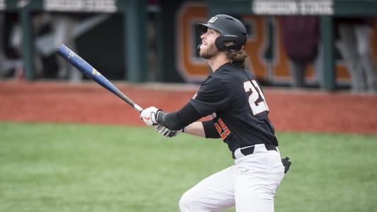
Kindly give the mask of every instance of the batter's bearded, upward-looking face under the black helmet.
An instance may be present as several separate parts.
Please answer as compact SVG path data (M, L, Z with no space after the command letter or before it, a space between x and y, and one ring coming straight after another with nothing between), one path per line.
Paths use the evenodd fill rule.
M211 28L207 29L207 33L204 33L200 38L202 39L202 45L200 46L200 57L204 59L210 59L218 54L220 51L215 45L216 37L219 37L220 33Z

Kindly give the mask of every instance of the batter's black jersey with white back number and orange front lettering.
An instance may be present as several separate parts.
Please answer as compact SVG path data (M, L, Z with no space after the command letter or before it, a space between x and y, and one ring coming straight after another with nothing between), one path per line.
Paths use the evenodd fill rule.
M211 116L231 151L258 143L278 145L262 89L245 69L229 63L219 67L190 103L203 117Z

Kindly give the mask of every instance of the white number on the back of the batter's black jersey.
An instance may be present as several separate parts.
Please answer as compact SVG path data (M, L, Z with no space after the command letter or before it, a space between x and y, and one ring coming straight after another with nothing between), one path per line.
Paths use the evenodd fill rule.
M260 114L261 112L269 111L265 100L265 95L263 95L257 81L245 81L243 83L243 88L245 88L246 93L250 93L249 104L254 116ZM258 100L260 99L259 97L261 97L262 100L258 102Z

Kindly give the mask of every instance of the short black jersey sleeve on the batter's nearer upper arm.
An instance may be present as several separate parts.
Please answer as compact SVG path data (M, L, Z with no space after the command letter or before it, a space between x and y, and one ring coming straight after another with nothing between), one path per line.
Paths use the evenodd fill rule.
M207 78L200 86L197 95L190 103L203 117L225 110L228 107L230 97L227 95L227 88L219 78Z

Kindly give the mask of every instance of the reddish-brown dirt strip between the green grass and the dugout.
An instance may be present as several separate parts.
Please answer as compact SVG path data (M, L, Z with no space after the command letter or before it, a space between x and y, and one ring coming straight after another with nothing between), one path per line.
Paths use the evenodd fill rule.
M198 86L115 83L141 107L178 110ZM377 134L377 95L265 89L277 131ZM132 107L96 83L0 81L0 120L141 125Z

